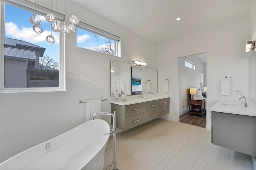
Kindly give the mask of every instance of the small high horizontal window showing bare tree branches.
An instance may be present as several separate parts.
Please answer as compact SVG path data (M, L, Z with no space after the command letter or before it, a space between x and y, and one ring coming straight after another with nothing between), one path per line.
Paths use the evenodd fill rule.
M76 46L120 57L120 37L79 22L76 31Z

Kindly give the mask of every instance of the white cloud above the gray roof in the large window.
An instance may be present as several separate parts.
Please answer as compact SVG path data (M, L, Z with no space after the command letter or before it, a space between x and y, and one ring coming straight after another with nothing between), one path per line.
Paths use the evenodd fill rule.
M19 29L13 22L5 23L5 32L10 38L20 39L29 43L46 42L46 37L51 34L51 31L43 31L38 34L33 31L33 27L22 27L22 29ZM52 35L55 38L55 43L58 43L59 35L54 33L54 31L52 32Z

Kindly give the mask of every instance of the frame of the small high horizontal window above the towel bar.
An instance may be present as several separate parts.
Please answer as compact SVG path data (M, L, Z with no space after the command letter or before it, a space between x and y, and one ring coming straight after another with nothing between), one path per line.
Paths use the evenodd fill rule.
M120 53L120 37L118 37L117 35L114 35L112 33L109 33L107 31L104 31L102 29L99 29L97 27L94 27L92 25L89 25L87 23L84 23L82 21L79 21L79 23L76 25L76 27L79 29L91 32L91 33L95 33L102 37L111 39L112 41L114 41L114 46L115 46L115 55L112 55L112 56L121 57L121 55L120 55L121 54ZM76 33L76 37L77 37L77 33ZM77 41L76 41L76 47L78 47ZM79 48L82 48L82 47L79 47ZM87 49L87 48L84 48L84 49ZM92 50L92 49L88 49L88 50ZM95 51L95 50L92 50L92 51ZM96 52L102 53L100 51L96 51ZM104 54L107 54L107 53L104 53ZM108 55L111 55L111 54L108 54Z

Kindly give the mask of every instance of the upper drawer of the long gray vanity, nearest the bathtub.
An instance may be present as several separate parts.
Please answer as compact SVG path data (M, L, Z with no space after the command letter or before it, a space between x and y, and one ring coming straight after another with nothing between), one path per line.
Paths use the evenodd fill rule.
M145 102L124 106L124 117L130 117L145 112Z

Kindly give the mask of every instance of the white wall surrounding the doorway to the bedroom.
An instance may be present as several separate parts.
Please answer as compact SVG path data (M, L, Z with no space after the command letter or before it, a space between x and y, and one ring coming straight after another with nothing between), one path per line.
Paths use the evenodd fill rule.
M170 113L163 118L179 121L178 57L207 54L207 129L211 127L210 108L218 101L224 76L232 77L231 96L238 98L235 89L248 96L250 56L244 48L250 33L250 19L244 16L158 45L158 83L170 79ZM180 46L184 43L188 44L186 48ZM162 87L158 92L163 92Z

